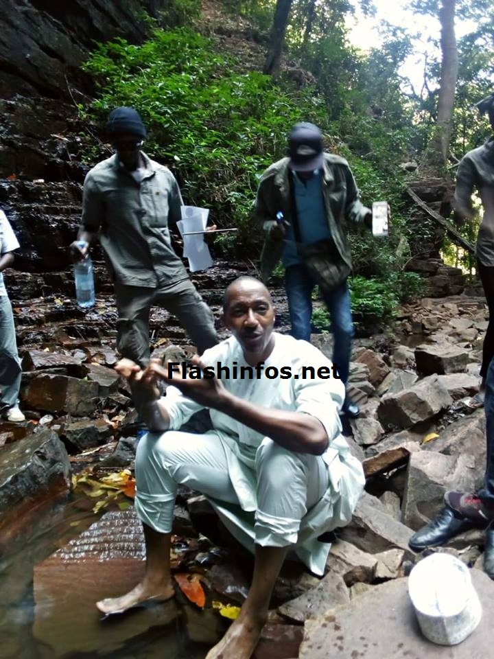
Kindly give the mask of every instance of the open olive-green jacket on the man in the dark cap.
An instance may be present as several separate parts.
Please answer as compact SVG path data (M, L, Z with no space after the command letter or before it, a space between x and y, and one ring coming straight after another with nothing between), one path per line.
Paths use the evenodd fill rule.
M360 201L349 163L330 153L324 156L322 186L327 222L340 256L351 267L346 222L364 222L371 211ZM283 248L283 240L270 238L271 229L277 224L277 213L281 211L285 220L292 221L288 161L288 158L283 158L268 167L261 176L257 190L255 217L266 236L261 253L261 279L264 282L272 275Z

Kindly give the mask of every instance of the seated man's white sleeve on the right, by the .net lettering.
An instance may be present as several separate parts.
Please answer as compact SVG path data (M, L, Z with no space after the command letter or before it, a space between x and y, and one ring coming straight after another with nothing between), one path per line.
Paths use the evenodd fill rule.
M316 377L314 379L307 377L304 380L302 378L303 366L314 368ZM317 370L320 367L330 369L331 377L328 380L317 377ZM299 376L298 379L293 380L296 411L319 419L325 427L330 444L342 431L338 413L345 397L344 384L339 378L333 378L331 367L332 362L322 352L314 346L307 345L307 351L304 351L298 360L297 369L293 371Z

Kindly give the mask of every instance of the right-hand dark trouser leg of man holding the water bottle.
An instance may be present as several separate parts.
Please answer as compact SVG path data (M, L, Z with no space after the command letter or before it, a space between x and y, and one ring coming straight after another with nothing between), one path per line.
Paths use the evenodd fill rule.
M159 292L157 301L178 318L199 354L217 345L213 312L190 281L184 282L177 291Z

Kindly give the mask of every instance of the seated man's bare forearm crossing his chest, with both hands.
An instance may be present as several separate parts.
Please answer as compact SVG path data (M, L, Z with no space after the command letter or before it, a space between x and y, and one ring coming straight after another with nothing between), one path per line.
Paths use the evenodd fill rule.
M198 357L194 357L192 362L203 368ZM165 380L180 389L183 395L191 400L232 417L261 435L270 437L287 450L320 455L327 449L326 430L315 417L301 412L254 405L228 393L221 380L217 378L189 380L182 379L180 373L174 373L174 378L168 378L167 371L159 362L153 360L144 371L130 360L121 360L115 368L129 379L132 393L134 397L139 398L143 410L151 407L159 410L163 416L163 427L160 430L168 427L169 419L165 407L156 400L158 394L155 383L157 380ZM148 403L152 402L155 403L154 406L149 406Z

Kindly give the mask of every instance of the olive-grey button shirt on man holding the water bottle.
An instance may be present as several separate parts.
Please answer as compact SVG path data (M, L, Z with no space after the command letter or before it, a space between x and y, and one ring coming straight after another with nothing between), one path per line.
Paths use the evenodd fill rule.
M88 172L82 227L99 232L110 274L119 284L171 288L188 279L169 235L169 223L181 219L182 197L172 172L141 156L145 169L139 176L132 176L116 154Z

